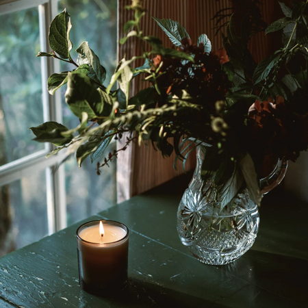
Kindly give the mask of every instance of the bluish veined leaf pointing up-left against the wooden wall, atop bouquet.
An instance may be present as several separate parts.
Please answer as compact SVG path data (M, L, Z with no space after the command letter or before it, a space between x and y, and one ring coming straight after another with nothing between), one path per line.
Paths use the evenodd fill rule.
M171 19L159 19L155 17L152 18L156 21L159 27L163 29L168 38L170 38L172 44L176 47L181 46L181 40L183 40L183 38L190 38L185 28L177 21L172 21Z

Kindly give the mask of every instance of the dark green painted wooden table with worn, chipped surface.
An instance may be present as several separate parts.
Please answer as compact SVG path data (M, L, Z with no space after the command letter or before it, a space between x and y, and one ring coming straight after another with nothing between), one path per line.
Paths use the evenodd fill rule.
M307 205L277 188L262 202L253 248L233 264L207 266L177 237L177 205L188 178L87 219L129 227L125 298L99 298L80 289L79 222L0 259L0 307L308 307Z

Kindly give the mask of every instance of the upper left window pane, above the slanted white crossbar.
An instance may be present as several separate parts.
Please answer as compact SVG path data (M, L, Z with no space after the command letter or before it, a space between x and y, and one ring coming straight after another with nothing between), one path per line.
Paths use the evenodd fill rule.
M44 149L29 127L43 121L38 8L0 16L0 166Z

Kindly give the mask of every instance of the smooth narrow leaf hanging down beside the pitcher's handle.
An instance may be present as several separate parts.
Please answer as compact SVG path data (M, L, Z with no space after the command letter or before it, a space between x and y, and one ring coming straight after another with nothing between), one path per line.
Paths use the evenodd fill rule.
M257 172L255 172L255 164L253 163L251 155L247 153L244 158L241 159L240 168L242 170L242 174L244 175L244 180L246 182L246 187L248 189L251 200L255 204L260 205L261 191L259 186L259 179L257 177Z

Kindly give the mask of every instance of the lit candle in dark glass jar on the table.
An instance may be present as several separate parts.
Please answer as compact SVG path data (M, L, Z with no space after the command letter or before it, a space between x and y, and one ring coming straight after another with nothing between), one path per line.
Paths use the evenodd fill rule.
M118 292L127 283L129 231L113 220L93 220L77 229L79 282L91 294Z

